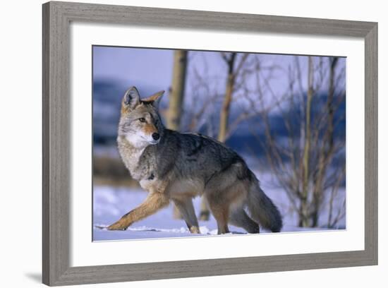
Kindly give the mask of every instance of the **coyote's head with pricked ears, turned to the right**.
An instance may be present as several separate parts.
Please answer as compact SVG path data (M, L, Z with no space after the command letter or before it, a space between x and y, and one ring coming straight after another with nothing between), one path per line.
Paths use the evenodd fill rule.
M135 87L129 88L121 102L119 137L125 137L137 148L159 143L164 126L157 112L164 91L140 100Z

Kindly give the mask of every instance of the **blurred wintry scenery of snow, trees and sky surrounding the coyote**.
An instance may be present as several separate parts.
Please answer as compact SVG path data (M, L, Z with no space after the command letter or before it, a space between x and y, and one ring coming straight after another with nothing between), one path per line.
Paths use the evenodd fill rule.
M166 127L236 150L278 205L284 231L346 228L345 58L94 46L92 72L95 225L146 196L116 148L121 98L135 85L141 97L166 91ZM206 203L196 199L195 209L201 232L214 234ZM94 229L94 239L189 236L179 218L171 205L126 232Z

